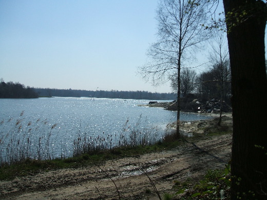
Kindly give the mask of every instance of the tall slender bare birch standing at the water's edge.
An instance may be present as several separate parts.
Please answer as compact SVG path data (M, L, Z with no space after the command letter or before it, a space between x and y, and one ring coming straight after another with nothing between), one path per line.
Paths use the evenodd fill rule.
M201 24L207 22L209 0L160 0L157 10L158 42L147 52L150 62L138 68L146 81L158 85L177 73L177 136L180 137L181 66L195 56L196 48L209 38Z

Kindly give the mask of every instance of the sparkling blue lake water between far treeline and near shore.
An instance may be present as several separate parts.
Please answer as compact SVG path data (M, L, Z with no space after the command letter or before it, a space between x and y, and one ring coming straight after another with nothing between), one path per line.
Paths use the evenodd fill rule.
M72 156L78 138L80 144L82 139L104 140L112 148L137 131L147 134L149 143L157 141L166 125L176 121L177 112L137 106L148 102L88 97L0 99L0 162L16 156ZM182 121L206 118L181 113Z

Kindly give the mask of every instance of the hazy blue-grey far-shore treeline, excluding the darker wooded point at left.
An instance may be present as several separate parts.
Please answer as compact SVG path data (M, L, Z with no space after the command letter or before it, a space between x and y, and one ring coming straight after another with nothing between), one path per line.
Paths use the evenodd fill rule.
M118 90L72 90L72 89L50 89L34 88L39 96L62 96L62 97L92 97L92 98L126 98L126 99L158 99L158 100L175 100L175 93L157 93L147 91L118 91Z

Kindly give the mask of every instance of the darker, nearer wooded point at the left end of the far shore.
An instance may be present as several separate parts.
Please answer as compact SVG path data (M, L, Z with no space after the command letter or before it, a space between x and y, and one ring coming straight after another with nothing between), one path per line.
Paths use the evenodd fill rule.
M0 98L38 98L33 88L25 87L20 83L0 82Z

